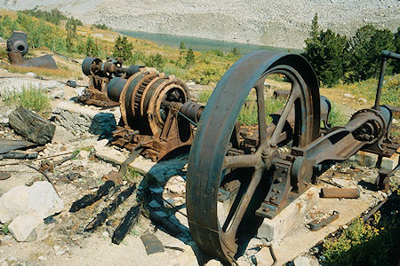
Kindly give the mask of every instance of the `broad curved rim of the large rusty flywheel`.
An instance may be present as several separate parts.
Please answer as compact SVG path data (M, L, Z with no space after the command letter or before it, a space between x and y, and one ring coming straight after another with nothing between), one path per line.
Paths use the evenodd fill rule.
M197 245L206 254L217 256L223 262L232 262L236 253L235 236L233 240L232 236L227 239L226 233L221 230L216 207L229 137L250 90L260 78L264 77L265 80L268 74L280 73L282 69L292 72L295 78L306 84L310 117L304 118L303 115L301 119L306 120L303 126L307 124L307 142L316 139L319 135L319 92L312 67L299 55L256 51L237 61L221 78L204 109L191 147L187 180L190 231ZM207 145L208 142L210 144ZM254 168L255 172L260 178L263 175L259 173L260 167Z

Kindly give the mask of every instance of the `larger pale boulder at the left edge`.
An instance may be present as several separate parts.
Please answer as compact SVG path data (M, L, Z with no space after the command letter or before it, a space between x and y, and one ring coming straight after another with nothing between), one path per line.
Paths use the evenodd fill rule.
M0 198L0 222L9 223L15 217L32 211L36 211L43 220L59 213L63 207L63 201L49 182L35 182L31 186L20 185Z

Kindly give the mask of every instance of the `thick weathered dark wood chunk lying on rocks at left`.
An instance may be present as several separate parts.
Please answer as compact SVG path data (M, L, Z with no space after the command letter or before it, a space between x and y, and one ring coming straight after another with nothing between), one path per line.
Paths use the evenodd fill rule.
M55 125L28 109L18 107L8 119L12 129L28 140L40 145L52 141Z

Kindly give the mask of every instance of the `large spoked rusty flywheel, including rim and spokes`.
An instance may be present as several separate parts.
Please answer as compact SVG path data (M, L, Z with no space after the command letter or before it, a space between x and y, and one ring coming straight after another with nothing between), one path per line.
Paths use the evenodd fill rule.
M270 125L265 114L265 80L269 74L283 74L291 87L282 113ZM258 133L258 145L252 152L232 155L228 153L232 146L229 140L250 96L256 97L258 122L254 130ZM193 239L204 253L219 257L222 262L235 261L241 237L253 229L244 216L255 217L254 192L268 192L265 180L273 174L277 147L289 141L292 146L301 147L319 137L319 108L316 74L300 55L255 51L224 74L198 122L188 162L188 223ZM292 132L286 134L286 121L293 112ZM217 214L218 194L221 184L232 173L238 173L241 188L228 215L221 217Z

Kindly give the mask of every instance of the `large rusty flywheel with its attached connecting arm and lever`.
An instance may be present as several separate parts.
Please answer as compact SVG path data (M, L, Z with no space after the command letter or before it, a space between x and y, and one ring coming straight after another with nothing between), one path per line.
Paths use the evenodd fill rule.
M235 262L257 224L299 197L322 164L347 160L360 149L390 156L385 147L394 145L392 113L379 102L386 59L399 55L384 51L382 57L375 106L332 129L320 129L323 101L316 74L300 55L256 51L228 69L204 108L188 162L188 223L204 253ZM269 74L283 74L292 89L268 125L264 90ZM246 136L236 121L250 93L257 96L258 126ZM291 152L282 153L283 145ZM217 202L227 197L232 199L228 214L218 215Z

